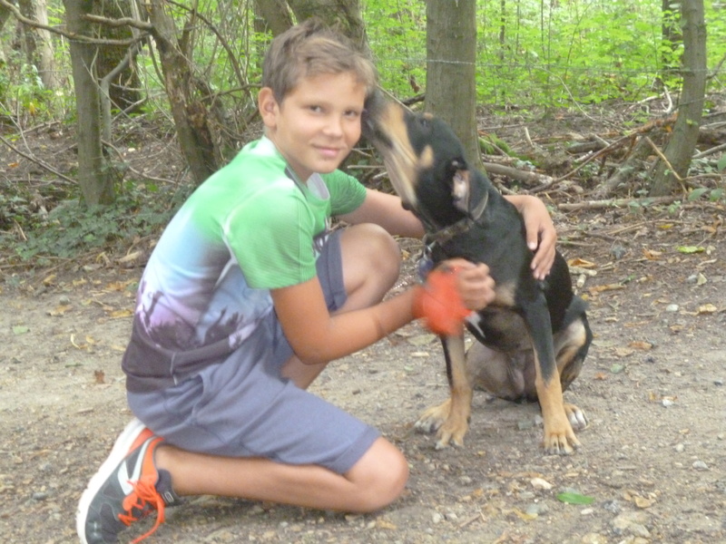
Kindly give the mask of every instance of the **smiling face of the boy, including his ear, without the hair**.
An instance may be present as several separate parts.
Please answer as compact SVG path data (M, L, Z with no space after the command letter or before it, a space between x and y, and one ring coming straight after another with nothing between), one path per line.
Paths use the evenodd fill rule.
M352 73L304 77L282 102L258 98L267 136L302 181L338 168L360 138L366 87Z

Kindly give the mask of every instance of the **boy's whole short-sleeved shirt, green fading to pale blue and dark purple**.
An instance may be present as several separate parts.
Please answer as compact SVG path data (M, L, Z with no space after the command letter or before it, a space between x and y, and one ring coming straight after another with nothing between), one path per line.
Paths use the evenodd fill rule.
M366 189L347 174L295 180L272 141L250 142L201 184L164 230L143 272L129 391L160 389L223 360L272 311L270 289L316 274L316 238Z

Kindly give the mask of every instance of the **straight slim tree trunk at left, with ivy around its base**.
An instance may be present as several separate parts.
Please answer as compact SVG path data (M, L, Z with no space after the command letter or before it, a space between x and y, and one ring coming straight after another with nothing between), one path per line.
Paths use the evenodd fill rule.
M64 0L64 5L68 32L90 36L91 25L83 15L91 13L93 0ZM86 204L110 204L113 181L104 169L99 89L93 70L96 47L71 40L70 48L78 119L78 183Z

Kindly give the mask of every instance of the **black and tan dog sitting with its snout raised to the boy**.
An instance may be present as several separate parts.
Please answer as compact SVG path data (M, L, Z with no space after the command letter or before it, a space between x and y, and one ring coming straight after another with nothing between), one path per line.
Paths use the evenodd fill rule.
M568 454L580 442L573 428L584 413L564 403L593 338L585 303L574 296L567 263L557 253L544 282L530 269L524 222L485 174L469 170L463 147L445 122L407 111L377 95L370 99L363 132L383 157L404 207L427 230L427 256L484 262L495 280L495 302L467 319L479 341L466 353L464 337L442 337L450 398L430 408L417 428L437 431L437 448L462 445L472 391L510 401L539 401L544 450Z

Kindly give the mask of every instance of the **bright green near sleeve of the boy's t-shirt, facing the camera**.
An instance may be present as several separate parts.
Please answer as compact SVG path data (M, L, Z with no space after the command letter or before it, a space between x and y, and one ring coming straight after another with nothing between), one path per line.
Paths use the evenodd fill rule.
M303 198L301 191L270 188L234 209L222 225L250 287L289 287L315 276L315 220Z

